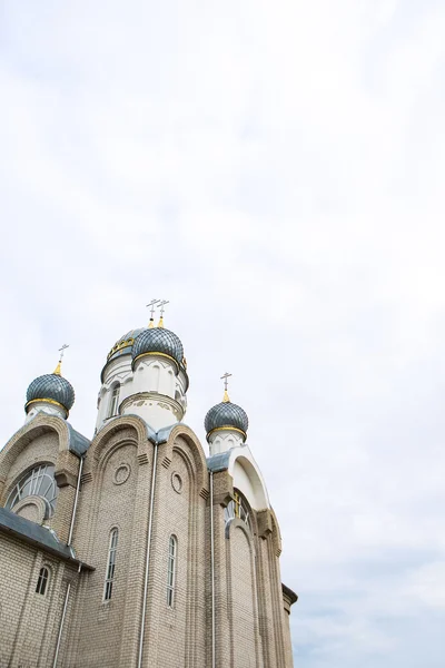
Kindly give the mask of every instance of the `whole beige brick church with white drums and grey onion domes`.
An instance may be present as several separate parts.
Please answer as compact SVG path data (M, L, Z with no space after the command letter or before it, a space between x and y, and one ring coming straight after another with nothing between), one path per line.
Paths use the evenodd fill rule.
M92 439L68 421L60 358L0 450L2 668L293 666L297 596L247 414L225 374L206 456L162 308L109 352Z

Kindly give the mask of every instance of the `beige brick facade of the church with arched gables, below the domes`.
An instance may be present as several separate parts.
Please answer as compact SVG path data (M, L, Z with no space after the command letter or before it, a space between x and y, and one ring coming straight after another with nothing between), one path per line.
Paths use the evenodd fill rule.
M70 450L63 420L40 413L0 452L0 505L22 474L41 462L56 466L59 485L56 512L44 525L67 543L80 458ZM227 523L233 479L227 471L214 474L211 504L205 453L191 430L178 424L167 441L154 442L144 421L128 415L101 429L85 456L72 534L76 563L32 544L30 537L0 532L0 668L52 666L65 607L57 666L138 666L152 485L142 666L211 666L210 512L216 667L293 666L288 612L295 599L291 592L283 598L274 513L250 509L249 525L237 518ZM113 529L116 571L105 601ZM169 607L171 536L177 553ZM44 596L36 593L43 566L50 573Z

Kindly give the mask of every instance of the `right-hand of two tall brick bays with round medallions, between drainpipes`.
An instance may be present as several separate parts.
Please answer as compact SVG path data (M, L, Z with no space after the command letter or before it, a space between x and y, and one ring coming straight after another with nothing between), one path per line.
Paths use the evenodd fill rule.
M147 666L206 665L206 502L198 494L190 446L159 448L155 531L146 632ZM179 485L180 479L180 485ZM179 489L180 487L180 489ZM174 608L167 605L169 538L178 540Z

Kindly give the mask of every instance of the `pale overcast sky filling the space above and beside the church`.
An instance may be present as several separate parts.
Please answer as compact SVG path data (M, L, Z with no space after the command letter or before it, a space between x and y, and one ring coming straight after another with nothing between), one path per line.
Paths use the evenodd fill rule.
M249 415L296 666L443 668L443 0L0 12L1 443L62 343L91 436L170 299L187 424L225 371Z

